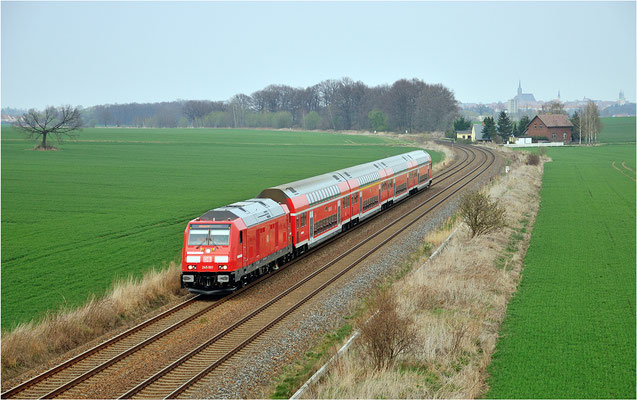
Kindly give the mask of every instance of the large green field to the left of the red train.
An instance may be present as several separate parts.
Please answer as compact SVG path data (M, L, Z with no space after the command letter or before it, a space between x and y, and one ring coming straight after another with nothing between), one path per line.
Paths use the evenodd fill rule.
M186 222L211 208L410 150L395 144L326 133L86 129L60 151L41 152L3 127L2 328L178 259Z

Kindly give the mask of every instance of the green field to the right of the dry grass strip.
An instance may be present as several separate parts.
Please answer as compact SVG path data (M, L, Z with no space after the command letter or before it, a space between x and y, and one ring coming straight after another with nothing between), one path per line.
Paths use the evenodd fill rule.
M487 397L635 398L635 145L548 155Z

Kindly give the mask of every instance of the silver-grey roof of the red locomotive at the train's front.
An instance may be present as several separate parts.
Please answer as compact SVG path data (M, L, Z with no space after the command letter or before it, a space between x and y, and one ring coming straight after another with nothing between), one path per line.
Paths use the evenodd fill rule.
M272 199L249 199L232 203L225 207L205 212L200 219L204 221L231 221L241 218L246 226L260 224L272 218L284 215L283 207Z

